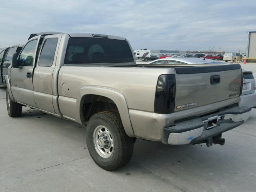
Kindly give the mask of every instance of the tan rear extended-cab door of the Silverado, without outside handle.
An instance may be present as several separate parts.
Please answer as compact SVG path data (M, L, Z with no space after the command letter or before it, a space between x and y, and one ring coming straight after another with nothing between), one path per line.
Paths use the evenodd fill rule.
M33 78L36 106L53 114L56 112L53 105L52 76L61 36L62 34L55 34L44 37Z

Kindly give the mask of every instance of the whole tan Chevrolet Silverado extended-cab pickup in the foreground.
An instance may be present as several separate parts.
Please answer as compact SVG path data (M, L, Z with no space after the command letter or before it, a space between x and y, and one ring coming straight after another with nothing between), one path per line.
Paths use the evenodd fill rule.
M136 138L223 145L251 110L239 106L239 64L138 65L128 40L111 35L31 34L5 80L9 116L28 106L87 125L88 150L105 170L129 162Z

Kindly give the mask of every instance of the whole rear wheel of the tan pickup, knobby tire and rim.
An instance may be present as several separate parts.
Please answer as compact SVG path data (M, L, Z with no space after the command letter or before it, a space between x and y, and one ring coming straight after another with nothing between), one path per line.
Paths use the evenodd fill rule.
M116 112L99 112L90 118L86 143L94 162L108 171L126 165L132 158L133 138L124 131Z

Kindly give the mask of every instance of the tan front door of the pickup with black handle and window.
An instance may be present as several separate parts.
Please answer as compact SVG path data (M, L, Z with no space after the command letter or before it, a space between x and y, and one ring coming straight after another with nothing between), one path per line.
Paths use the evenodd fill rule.
M12 68L10 73L11 90L15 100L33 107L36 107L34 101L33 70L39 42L38 38L32 38L24 46L18 56L18 68Z

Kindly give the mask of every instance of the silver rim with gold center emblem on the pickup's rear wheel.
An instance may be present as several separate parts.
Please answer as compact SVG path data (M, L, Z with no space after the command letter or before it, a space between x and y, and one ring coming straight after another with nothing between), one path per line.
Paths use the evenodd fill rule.
M103 158L109 158L114 151L114 141L108 128L97 126L93 132L93 142L96 152Z

